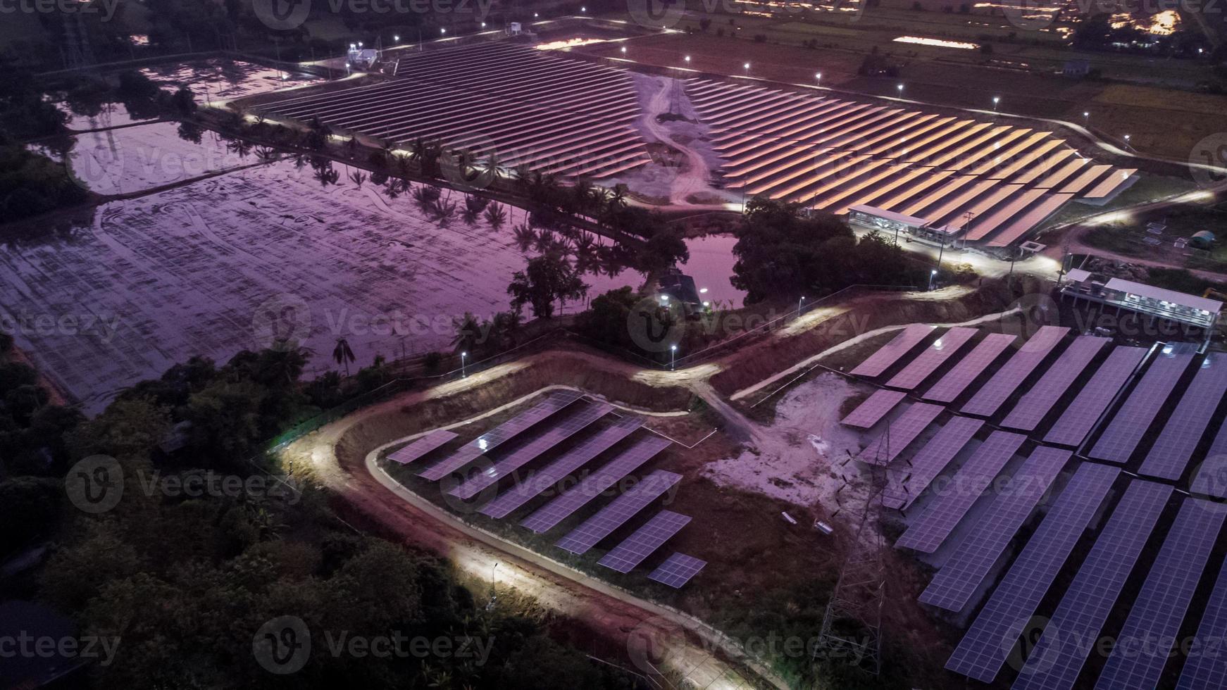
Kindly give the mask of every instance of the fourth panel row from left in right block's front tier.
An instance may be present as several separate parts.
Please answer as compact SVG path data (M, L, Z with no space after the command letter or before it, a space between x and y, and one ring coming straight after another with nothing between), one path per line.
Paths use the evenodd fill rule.
M951 487L934 499L929 510L908 527L894 545L926 554L937 550L1026 440L1022 434L993 431L958 468Z

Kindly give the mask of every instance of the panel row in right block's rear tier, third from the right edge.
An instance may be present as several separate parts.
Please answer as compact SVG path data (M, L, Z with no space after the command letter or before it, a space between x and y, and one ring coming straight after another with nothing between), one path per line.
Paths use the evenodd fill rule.
M1191 343L1175 343L1155 353L1155 360L1142 375L1142 380L1129 393L1129 400L1120 406L1112 423L1094 442L1091 457L1109 462L1129 460L1137 447L1137 441L1142 439L1142 434L1150 428L1151 422L1155 422L1155 415L1172 393L1180 374L1193 360L1195 352L1196 346Z

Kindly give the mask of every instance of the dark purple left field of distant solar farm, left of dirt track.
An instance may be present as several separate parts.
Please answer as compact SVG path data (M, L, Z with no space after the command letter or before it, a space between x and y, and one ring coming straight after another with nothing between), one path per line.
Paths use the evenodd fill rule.
M398 145L438 140L564 176L609 178L650 159L632 127L639 114L631 76L519 45L480 44L400 59L395 80L263 108Z

